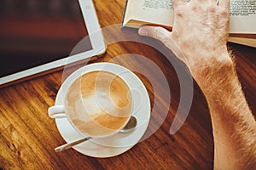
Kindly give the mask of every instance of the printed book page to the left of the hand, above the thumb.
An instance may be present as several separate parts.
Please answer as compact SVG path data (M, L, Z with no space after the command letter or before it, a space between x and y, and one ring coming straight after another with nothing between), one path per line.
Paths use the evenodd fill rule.
M131 18L161 26L173 24L173 0L129 0L134 10Z

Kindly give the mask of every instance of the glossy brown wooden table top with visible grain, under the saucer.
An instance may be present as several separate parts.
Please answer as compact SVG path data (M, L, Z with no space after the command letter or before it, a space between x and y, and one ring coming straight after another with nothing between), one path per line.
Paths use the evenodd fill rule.
M0 89L0 168L212 169L212 124L200 88L195 82L193 86L187 80L180 82L180 71L184 77L189 77L189 73L172 54L165 54L160 43L139 37L134 29L119 28L125 0L94 3L108 50L101 59L90 63L123 65L143 81L151 103L145 136L131 150L109 158L85 156L73 149L55 153L56 146L65 144L55 120L48 116L48 108L55 104L62 82L63 71L55 71ZM154 48L143 42L153 43ZM229 47L236 55L237 74L255 116L256 48L235 43L229 43ZM68 74L81 66L71 67ZM182 127L170 134L177 110L185 114L189 104L182 101L181 92L191 89L192 96L185 95L193 98L189 115Z

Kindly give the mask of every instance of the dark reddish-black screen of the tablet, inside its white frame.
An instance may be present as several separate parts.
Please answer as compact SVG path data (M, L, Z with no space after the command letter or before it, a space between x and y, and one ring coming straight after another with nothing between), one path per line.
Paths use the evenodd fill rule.
M0 23L0 77L65 58L88 35L78 0L2 0Z

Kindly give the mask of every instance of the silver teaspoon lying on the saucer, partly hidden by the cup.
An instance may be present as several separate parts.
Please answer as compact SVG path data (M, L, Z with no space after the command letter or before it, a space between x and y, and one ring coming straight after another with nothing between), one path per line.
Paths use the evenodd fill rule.
M135 116L131 116L129 122L127 122L125 127L122 128L119 132L120 133L129 133L136 126L137 126L137 119L136 119ZM79 139L79 140L73 141L71 143L62 144L61 146L58 146L58 147L55 148L55 152L60 152L60 151L63 151L63 150L67 150L67 149L73 147L74 145L81 144L82 142L84 142L86 140L89 140L89 139L92 139L92 137L85 137L83 139Z

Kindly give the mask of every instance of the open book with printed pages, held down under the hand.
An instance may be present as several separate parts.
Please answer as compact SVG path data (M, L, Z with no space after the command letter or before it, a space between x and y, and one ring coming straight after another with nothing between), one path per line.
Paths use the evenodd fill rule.
M122 26L172 28L173 20L173 0L126 0ZM256 48L255 0L230 0L229 42Z

